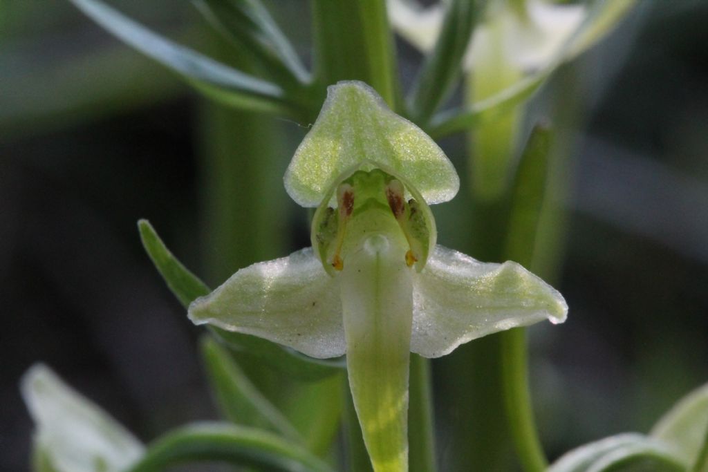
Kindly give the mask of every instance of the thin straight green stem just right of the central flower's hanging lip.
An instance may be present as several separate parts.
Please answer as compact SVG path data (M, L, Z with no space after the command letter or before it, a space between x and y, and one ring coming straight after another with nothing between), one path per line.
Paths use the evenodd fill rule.
M409 463L411 472L435 472L435 431L430 361L411 354L409 381ZM357 469L358 470L358 469Z

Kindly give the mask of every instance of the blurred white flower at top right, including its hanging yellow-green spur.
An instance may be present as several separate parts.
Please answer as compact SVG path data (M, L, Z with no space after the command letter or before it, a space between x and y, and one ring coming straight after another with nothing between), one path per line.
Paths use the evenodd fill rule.
M415 0L388 0L389 18L399 34L422 52L433 51L447 8L428 8ZM480 5L479 22L462 59L467 115L486 118L474 124L470 168L472 190L493 201L508 190L509 168L523 127L518 106L560 64L598 42L632 9L636 0L594 0L559 4L550 0L490 0ZM481 5L484 4L484 8ZM452 10L454 14L455 10ZM442 35L444 37L445 35ZM493 111L496 110L496 111ZM433 121L433 132L471 130L472 123L446 116ZM465 113L459 116L465 115ZM440 120L438 120L440 119ZM455 122L457 121L457 124Z

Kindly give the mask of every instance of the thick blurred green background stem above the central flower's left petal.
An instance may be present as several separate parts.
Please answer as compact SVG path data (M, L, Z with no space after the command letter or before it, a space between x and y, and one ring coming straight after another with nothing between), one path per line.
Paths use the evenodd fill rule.
M275 120L211 102L200 112L204 254L214 284L284 252L284 152Z

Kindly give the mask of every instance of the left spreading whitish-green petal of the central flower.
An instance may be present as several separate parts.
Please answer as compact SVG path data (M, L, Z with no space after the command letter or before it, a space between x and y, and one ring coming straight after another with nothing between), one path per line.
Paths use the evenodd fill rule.
M345 351L339 289L312 248L239 270L190 304L188 316L320 359Z

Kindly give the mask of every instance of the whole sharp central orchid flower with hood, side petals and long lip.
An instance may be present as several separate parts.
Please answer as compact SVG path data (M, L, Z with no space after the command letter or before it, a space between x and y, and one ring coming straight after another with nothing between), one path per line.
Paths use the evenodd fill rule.
M365 84L329 87L285 188L317 207L312 247L239 270L188 316L312 357L346 354L375 471L408 468L410 352L440 357L489 333L566 318L561 294L520 265L435 244L428 205L455 196L455 168Z

